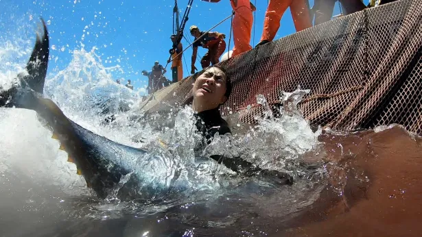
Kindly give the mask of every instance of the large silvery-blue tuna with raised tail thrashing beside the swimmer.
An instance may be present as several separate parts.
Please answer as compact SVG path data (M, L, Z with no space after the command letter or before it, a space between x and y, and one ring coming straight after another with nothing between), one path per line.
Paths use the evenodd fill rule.
M9 90L0 91L0 107L34 110L53 132L52 138L60 142L60 149L69 155L68 161L76 165L78 174L101 199L118 197L122 201L132 199L166 199L170 193L180 195L191 187L186 179L179 179L180 170L169 169L174 161L150 155L143 149L128 147L108 138L94 134L71 121L58 105L43 97L45 77L49 60L49 35L43 19L43 34L36 36L36 43L26 72L18 75L19 82ZM1 88L0 88L1 90ZM208 162L207 167L218 169L219 159L196 158L196 164ZM233 174L238 167L276 177L279 184L291 184L285 173L262 171L243 160L220 159L226 167L219 171ZM227 167L230 167L230 171ZM259 172L255 172L259 171Z

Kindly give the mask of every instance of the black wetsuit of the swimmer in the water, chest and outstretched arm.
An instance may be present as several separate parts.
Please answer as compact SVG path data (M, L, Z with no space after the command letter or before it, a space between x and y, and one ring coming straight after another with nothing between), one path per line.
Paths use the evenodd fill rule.
M218 108L199 112L198 114L195 114L195 117L197 119L195 124L196 128L205 139L199 144L200 147L198 146L196 149L203 149L205 145L209 145L217 132L220 135L231 134L231 130L228 127L227 122L221 117ZM228 169L231 169L240 175L274 175L279 177L279 179L282 180L281 182L292 184L292 178L289 175L278 171L263 170L240 158L224 158L222 155L211 155L211 158L216 160L219 164L224 164Z

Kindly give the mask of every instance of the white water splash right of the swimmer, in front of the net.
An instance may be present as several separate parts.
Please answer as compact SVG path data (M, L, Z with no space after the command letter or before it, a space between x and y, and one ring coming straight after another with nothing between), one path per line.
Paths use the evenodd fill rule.
M208 154L218 153L232 158L253 162L262 169L300 173L298 162L301 155L318 148L318 136L322 130L313 132L309 121L303 118L297 105L309 90L298 88L294 92L283 92L283 106L276 118L266 98L257 95L257 103L265 108L263 118L257 117L258 125L244 136L218 136L209 147Z

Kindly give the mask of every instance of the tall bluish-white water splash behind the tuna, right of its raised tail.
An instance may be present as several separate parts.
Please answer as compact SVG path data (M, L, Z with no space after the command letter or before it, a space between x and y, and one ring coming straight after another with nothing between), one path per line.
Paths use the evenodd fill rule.
M47 80L45 93L62 110L80 112L84 120L97 114L128 111L145 91L133 91L115 83L109 72L116 70L121 70L118 65L104 67L101 64L95 47L91 51L77 49L69 66Z

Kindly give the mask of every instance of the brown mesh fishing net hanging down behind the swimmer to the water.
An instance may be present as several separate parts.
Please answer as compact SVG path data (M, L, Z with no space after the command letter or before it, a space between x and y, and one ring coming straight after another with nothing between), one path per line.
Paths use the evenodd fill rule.
M422 133L422 1L403 0L305 29L222 62L233 92L222 115L255 123L281 92L310 89L299 104L314 125L350 130L399 123ZM150 111L180 103L194 77L157 92ZM155 102L154 102L155 101ZM277 110L274 109L277 115Z

